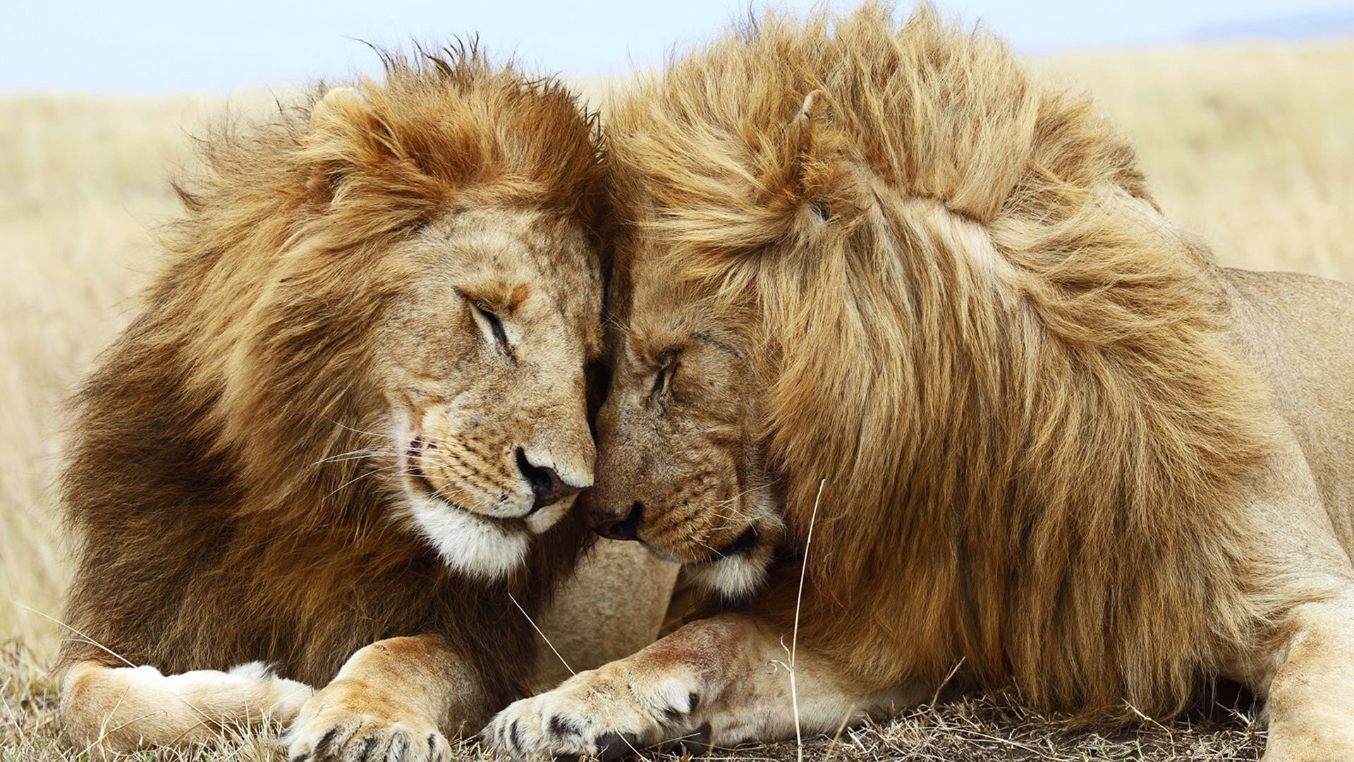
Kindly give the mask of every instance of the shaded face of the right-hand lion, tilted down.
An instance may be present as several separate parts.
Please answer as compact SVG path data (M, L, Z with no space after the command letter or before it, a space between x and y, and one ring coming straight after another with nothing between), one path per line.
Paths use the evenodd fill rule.
M762 582L783 519L751 353L718 312L662 286L635 290L597 416L589 521L737 597Z

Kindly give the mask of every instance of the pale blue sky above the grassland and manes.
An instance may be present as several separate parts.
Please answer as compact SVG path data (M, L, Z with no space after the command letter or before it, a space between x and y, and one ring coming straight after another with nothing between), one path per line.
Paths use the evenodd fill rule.
M1350 0L938 4L968 22L983 19L1017 50L1034 53L1171 43L1205 26L1349 8ZM608 75L655 66L674 45L708 39L747 7L746 0L0 0L0 28L7 33L0 45L0 92L287 85L375 71L375 56L355 38L389 46L441 42L471 31L494 54L516 53L540 73Z

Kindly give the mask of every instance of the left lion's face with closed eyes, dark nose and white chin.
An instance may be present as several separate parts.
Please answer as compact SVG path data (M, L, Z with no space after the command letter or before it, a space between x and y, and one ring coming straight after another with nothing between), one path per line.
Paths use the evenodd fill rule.
M575 225L494 209L451 213L398 247L410 275L375 357L387 477L448 564L501 576L593 483L596 254Z

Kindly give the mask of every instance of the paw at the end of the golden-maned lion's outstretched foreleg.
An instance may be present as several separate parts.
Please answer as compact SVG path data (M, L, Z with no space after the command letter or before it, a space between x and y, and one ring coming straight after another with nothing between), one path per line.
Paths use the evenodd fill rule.
M700 697L685 681L647 687L582 673L555 690L510 704L481 736L513 759L590 755L620 759L666 742L689 740Z

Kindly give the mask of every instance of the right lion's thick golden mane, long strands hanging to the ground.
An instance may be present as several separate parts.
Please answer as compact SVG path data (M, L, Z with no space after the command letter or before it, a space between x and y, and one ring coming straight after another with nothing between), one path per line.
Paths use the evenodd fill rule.
M961 664L1178 710L1265 616L1229 507L1265 433L1132 149L929 8L769 16L636 88L608 140L653 245L617 278L642 251L747 316L791 546L814 522L802 645L869 686ZM800 559L749 603L787 630Z

